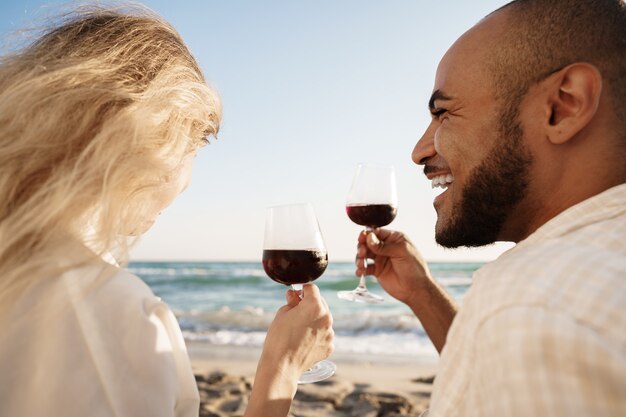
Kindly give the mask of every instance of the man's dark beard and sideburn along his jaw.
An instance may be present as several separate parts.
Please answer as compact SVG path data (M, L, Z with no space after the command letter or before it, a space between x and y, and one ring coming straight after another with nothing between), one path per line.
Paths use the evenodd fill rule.
M498 239L515 206L526 196L532 157L515 109L500 115L499 142L474 168L447 224L437 224L435 240L446 248L484 246ZM438 222L439 223L439 222Z

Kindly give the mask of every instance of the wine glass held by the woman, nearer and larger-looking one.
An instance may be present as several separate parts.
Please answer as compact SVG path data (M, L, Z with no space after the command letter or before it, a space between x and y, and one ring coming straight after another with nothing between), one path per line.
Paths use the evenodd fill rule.
M319 278L328 253L313 206L308 203L269 207L265 218L263 269L274 281L291 285L302 297L302 285ZM337 367L324 360L305 371L299 384L331 377Z

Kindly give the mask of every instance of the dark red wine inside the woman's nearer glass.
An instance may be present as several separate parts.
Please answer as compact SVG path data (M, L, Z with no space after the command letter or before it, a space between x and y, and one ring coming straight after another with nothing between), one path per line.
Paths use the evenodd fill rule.
M306 284L319 278L328 266L328 254L318 250L266 249L263 269L285 285Z

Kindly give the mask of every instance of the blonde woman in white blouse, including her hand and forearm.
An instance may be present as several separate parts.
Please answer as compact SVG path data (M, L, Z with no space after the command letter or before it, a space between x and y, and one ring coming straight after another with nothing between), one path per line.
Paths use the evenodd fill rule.
M197 416L170 311L123 270L187 186L221 106L146 11L73 15L0 62L0 415ZM315 286L287 293L247 416L284 416L332 351Z

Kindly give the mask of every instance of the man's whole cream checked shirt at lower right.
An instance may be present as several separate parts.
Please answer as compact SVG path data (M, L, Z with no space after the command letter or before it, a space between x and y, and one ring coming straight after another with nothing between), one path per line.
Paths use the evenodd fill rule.
M475 273L428 415L626 416L626 184Z

